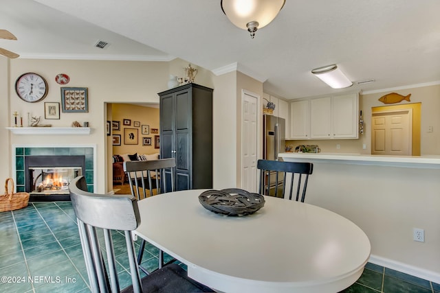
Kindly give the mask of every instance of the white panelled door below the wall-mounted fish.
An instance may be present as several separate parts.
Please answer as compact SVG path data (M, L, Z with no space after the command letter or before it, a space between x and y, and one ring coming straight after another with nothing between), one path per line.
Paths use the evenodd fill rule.
M412 110L373 113L371 154L412 154Z

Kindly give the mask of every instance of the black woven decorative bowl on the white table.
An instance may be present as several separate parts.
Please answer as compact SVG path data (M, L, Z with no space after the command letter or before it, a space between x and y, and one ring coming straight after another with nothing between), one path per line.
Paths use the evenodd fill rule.
M243 189L207 190L199 195L201 205L223 215L250 215L264 207L264 196Z

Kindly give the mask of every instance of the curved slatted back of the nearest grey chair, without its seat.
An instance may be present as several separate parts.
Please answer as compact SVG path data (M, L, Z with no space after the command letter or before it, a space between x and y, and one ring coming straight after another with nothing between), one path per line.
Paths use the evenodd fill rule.
M78 176L72 180L69 192L77 217L92 292L120 292L112 230L124 233L133 290L142 292L131 236L131 231L140 224L140 214L135 198L131 195L104 195L87 192L84 176ZM104 236L103 239L98 237L101 234ZM103 245L100 244L102 240ZM104 263L103 253L107 254L107 263Z

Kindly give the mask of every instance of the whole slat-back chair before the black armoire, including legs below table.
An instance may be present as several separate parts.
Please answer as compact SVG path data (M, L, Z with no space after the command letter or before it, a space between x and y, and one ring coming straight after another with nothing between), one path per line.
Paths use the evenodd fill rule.
M176 162L174 158L124 162L124 172L126 172L126 176L129 178L131 195L137 198L137 200L142 200L142 198L147 196L175 191L173 176L173 168L175 167ZM165 178L166 180L164 180ZM142 272L149 274L148 270L141 266L145 245L146 241L142 239L140 250L137 254L137 264ZM159 268L174 261L175 259L170 259L165 263L164 252L159 250Z

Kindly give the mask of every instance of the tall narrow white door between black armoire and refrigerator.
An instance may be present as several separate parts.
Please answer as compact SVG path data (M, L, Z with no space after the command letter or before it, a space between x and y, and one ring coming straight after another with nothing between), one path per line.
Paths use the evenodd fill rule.
M258 95L243 91L242 115L242 170L241 186L243 189L256 192L256 161L258 146Z

